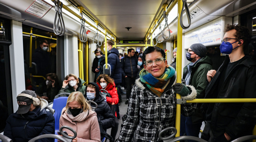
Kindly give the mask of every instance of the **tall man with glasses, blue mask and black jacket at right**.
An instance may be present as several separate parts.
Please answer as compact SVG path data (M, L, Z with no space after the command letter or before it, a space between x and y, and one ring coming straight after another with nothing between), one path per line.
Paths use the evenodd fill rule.
M240 25L227 25L225 32L220 50L227 55L217 71L208 71L205 98L255 98L256 63L244 54L250 32ZM201 109L207 121L204 131L210 134L205 140L226 142L252 135L256 103L204 103Z

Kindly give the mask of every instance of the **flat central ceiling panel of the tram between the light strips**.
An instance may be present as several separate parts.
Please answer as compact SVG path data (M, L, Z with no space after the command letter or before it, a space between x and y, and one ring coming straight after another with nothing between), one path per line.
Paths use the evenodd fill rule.
M74 0L93 13L118 39L144 39L165 0ZM131 27L128 31L125 27Z

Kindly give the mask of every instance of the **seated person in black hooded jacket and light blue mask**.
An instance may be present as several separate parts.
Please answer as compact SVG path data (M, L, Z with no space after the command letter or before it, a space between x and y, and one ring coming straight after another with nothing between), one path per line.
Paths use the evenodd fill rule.
M99 94L99 86L94 83L90 82L86 85L86 95L84 95L87 100L92 100L97 103L98 107L94 110L97 113L99 125L103 128L100 130L100 137L101 139L104 138L103 130L108 128L114 127L115 116L113 115L109 105L106 101L104 101L104 97ZM95 104L90 104L92 107L95 107Z

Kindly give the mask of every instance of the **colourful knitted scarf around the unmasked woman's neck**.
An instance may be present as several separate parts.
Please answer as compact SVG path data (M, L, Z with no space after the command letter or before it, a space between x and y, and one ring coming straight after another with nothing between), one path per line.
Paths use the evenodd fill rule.
M164 89L169 84L168 80L175 74L175 69L169 65L165 69L163 75L155 78L151 73L145 69L140 71L140 81L146 83L147 87L159 97L162 95Z

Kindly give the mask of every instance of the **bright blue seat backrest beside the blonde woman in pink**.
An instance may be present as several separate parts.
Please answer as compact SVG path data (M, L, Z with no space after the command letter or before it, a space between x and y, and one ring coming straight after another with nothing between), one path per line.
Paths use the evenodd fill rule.
M59 123L61 117L61 111L66 106L68 97L58 97L53 100L52 108L55 110L54 118L55 118L55 134L57 134L59 130Z

